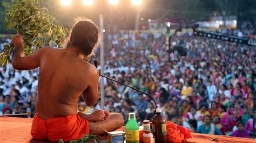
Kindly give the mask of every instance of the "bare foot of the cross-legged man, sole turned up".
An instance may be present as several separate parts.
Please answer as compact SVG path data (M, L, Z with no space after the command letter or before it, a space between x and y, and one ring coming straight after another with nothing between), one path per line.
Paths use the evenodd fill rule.
M90 114L86 114L84 112L78 112L78 115L89 121L100 121L100 120L104 121L109 119L110 112L106 110L96 110Z

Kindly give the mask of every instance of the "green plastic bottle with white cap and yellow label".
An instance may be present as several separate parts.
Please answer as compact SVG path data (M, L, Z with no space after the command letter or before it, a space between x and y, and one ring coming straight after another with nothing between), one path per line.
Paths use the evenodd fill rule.
M135 113L129 113L129 121L125 125L126 143L139 143L139 125L135 118Z

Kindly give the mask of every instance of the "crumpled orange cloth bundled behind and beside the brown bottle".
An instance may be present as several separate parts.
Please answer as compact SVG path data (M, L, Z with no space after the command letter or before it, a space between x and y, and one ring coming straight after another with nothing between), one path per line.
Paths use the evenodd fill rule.
M181 142L192 138L191 130L166 121L167 142ZM139 142L143 142L144 130L139 132Z

